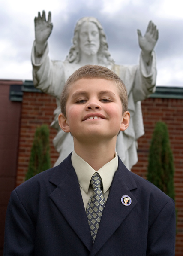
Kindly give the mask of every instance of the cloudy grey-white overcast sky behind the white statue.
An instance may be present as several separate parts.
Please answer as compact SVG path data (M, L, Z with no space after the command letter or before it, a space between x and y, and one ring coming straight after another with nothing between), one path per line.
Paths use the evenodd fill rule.
M183 0L0 0L0 79L32 80L34 17L42 10L52 14L48 43L55 60L68 54L76 21L93 16L116 64L138 64L137 29L144 35L152 20L159 29L156 84L183 87Z

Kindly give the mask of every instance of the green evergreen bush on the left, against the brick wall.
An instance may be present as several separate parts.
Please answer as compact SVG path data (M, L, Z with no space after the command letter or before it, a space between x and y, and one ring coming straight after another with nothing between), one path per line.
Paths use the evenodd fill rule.
M48 125L36 129L25 180L51 168Z

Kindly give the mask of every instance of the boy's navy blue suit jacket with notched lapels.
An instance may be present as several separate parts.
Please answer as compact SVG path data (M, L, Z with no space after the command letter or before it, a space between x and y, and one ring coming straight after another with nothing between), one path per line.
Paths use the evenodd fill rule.
M121 197L132 199L129 206ZM174 201L119 159L92 243L71 155L11 194L4 256L174 256Z

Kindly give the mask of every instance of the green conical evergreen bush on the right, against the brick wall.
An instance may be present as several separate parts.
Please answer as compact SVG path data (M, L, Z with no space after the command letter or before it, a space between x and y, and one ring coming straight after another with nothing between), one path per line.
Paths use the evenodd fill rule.
M157 122L150 145L147 180L175 199L174 159L170 147L168 128Z

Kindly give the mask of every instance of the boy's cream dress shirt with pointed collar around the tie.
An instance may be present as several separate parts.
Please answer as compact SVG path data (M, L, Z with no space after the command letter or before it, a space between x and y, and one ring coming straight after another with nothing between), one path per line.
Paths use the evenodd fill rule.
M78 177L81 196L83 198L84 208L86 210L90 196L93 195L93 188L90 185L90 180L96 170L94 170L86 161L78 156L75 151L72 152L71 161ZM102 179L102 192L105 197L105 201L108 199L109 189L114 177L114 173L117 171L117 167L118 157L117 153L115 152L114 158L97 171Z

